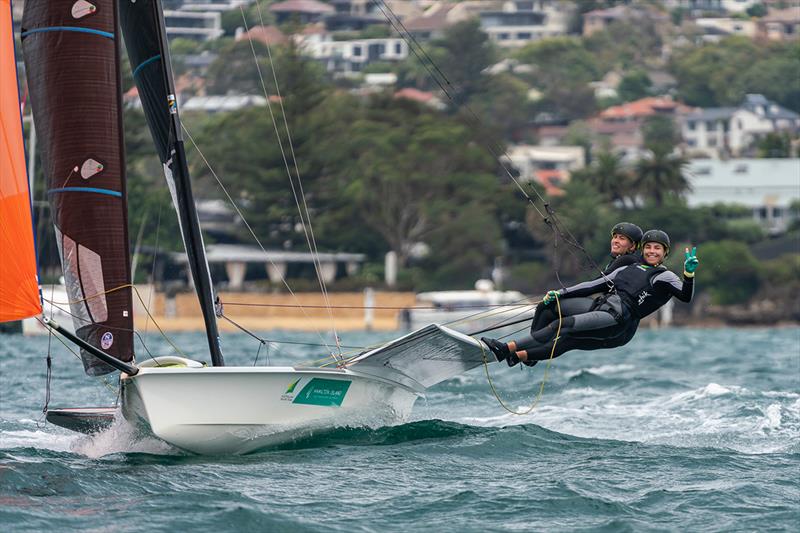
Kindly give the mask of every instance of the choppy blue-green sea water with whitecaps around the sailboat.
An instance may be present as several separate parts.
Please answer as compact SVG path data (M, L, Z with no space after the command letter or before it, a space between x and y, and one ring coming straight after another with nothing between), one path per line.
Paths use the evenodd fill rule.
M176 340L198 351L204 343ZM229 363L252 363L252 339L228 336L224 346ZM115 440L37 424L46 348L46 338L0 336L4 530L797 531L800 523L798 328L641 331L622 349L573 352L554 361L526 416L503 411L479 368L431 389L408 424L341 428L230 458L131 442L119 430ZM280 350L273 363L318 354ZM113 403L113 391L85 378L64 348L54 354L51 406ZM541 367L491 372L521 408Z

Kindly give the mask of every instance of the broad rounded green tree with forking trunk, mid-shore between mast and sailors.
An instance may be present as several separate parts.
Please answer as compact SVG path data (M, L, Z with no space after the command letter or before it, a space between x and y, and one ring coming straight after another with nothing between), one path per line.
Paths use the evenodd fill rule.
M469 208L475 217L493 212L486 200L495 196L494 164L471 128L414 102L386 97L374 99L365 111L346 135L347 151L357 155L342 169L352 176L345 194L402 265L415 243L427 241L461 211Z

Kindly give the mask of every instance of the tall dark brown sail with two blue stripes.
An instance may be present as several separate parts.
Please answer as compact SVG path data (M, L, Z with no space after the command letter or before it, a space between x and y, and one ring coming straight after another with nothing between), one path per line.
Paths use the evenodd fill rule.
M125 164L114 0L28 0L22 48L77 335L133 359ZM86 372L113 368L89 354Z

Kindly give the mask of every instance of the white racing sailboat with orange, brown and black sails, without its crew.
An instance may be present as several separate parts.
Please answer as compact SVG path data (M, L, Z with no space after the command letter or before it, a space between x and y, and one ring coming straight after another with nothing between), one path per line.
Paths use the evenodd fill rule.
M12 42L8 3L0 0L4 44ZM51 410L49 421L92 431L121 415L184 450L247 453L308 431L402 422L427 388L485 361L478 341L431 324L333 367L226 366L160 2L25 4L22 47L74 333L47 316L42 321L80 347L88 375L120 373L118 408ZM177 356L138 360L134 354L120 29L180 221L210 366ZM9 49L3 47L4 56ZM10 83L13 65L11 52L2 64L4 106L18 94ZM18 117L3 108L5 138L15 144L0 155L12 156L0 178L0 320L41 313ZM20 261L8 267L11 256Z

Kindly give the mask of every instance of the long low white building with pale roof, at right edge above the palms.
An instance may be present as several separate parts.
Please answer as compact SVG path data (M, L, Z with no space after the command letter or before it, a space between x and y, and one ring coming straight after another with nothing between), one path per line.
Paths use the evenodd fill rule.
M771 233L792 221L789 206L800 201L800 159L694 159L686 169L691 207L718 203L749 207Z

